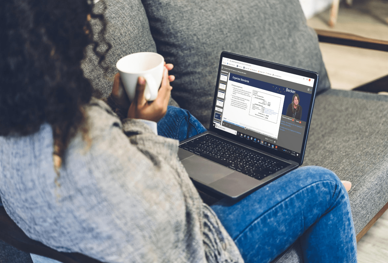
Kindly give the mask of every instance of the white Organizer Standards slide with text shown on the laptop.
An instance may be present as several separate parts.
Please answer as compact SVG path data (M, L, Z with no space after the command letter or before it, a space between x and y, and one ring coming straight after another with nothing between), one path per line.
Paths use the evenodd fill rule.
M277 139L283 104L284 95L249 86L241 76L230 77L222 121Z

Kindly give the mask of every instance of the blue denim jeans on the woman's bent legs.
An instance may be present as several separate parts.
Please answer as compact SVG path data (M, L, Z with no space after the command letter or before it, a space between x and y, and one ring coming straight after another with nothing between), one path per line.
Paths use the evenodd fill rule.
M158 134L182 141L204 127L187 110L169 107ZM300 239L304 262L357 262L348 193L322 167L301 167L244 199L211 206L246 263L270 262Z

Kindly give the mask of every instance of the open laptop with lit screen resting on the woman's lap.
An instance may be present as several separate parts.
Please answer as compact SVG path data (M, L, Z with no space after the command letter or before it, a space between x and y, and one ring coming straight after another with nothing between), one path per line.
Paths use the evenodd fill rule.
M242 198L303 163L318 74L222 52L208 131L178 157L202 189Z

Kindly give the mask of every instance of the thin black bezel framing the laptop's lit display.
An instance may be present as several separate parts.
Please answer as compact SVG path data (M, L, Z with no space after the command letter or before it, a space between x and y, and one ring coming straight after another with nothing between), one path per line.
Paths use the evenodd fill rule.
M305 155L308 131L310 130L311 116L312 116L312 112L313 112L313 108L314 108L315 95L316 95L316 91L317 91L317 83L318 83L318 79L319 79L318 73L304 70L304 69L298 69L298 68L290 67L290 66L286 66L286 65L281 65L281 64L277 64L277 63L273 63L273 62L268 62L268 61L261 60L258 58L246 57L243 55L237 55L237 54L229 53L229 52L225 52L225 51L222 52L221 56L220 56L220 62L218 65L218 74L217 74L216 88L215 88L214 98L213 98L213 108L211 111L209 130L216 132L217 134L220 134L226 138L230 138L232 140L235 140L235 141L239 141L237 139L239 137L237 137L236 135L231 134L229 132L217 129L215 127L215 125L213 125L214 124L213 123L213 119L214 119L213 116L215 114L215 105L216 105L216 100L217 100L218 83L220 81L220 74L221 74L221 69L222 69L222 59L223 58L229 58L232 60L239 60L239 61L244 62L244 63L254 64L254 65L258 65L258 66L262 66L262 67L267 67L269 69L280 70L283 72L296 74L299 76L314 79L314 84L312 87L312 96L311 96L311 100L310 100L310 107L308 109L308 114L307 114L306 129L305 129L305 134L303 136L302 147L301 147L301 152L300 152L299 157L288 155L286 153L283 153L282 151L272 149L272 148L270 148L268 146L264 146L262 144L252 143L250 141L247 142L246 140L242 141L242 143L249 145L251 147L254 147L258 150L266 151L266 152L271 153L273 155L279 156L280 158L284 158L286 160L291 160L291 161L297 162L297 163L299 163L299 165L301 165L303 163L303 159L304 159L304 155Z

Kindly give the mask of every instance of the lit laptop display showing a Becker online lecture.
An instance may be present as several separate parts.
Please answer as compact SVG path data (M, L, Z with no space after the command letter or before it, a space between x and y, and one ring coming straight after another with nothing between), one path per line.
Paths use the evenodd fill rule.
M222 57L213 127L249 145L300 158L314 83L309 77Z

